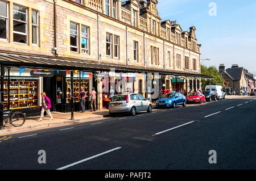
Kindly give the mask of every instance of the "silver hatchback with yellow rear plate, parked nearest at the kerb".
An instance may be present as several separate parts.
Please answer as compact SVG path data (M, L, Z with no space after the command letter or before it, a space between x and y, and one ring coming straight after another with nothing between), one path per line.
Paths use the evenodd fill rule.
M139 111L152 112L152 103L141 94L114 95L109 103L110 115L128 112L134 116Z

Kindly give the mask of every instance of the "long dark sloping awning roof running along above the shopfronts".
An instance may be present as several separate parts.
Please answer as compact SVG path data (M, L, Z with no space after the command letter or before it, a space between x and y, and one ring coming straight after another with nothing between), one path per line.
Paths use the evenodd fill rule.
M184 73L181 71L165 71L162 69L138 68L131 65L112 65L96 61L80 60L65 57L31 56L0 52L0 65L22 68L53 69L53 70L80 70L80 71L110 71L122 73L159 73L160 75L175 75L184 77L213 78L208 75Z

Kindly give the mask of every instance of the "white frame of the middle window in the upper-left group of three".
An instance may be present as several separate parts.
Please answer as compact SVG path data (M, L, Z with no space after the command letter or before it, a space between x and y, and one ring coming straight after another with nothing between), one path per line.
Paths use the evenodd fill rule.
M24 6L16 5L16 4L13 4L13 6L23 7L24 9L26 9L26 22L23 22L22 20L17 20L17 19L14 19L14 18L13 18L13 36L14 36L14 33L16 33L16 34L18 34L18 35L24 35L24 36L26 36L26 43L17 42L17 41L14 41L14 40L13 40L13 42L14 42L14 43L18 43L18 44L26 44L26 45L28 45L28 8L27 8L27 7L24 7ZM17 11L17 10L14 10L14 9L13 9L13 12L14 12L14 11L24 14L24 12L20 12L20 11ZM20 23L25 23L25 24L26 24L26 33L14 31L14 21L20 22Z

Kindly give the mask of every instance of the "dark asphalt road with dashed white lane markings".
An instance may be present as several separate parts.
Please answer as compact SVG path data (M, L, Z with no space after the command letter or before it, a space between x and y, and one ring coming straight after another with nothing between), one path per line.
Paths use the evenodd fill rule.
M11 135L0 142L0 169L256 169L255 99ZM217 163L209 163L210 150Z

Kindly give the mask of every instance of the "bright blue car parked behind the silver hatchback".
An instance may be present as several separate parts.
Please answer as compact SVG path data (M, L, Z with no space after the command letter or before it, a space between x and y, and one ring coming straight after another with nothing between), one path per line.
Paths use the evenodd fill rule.
M177 105L183 105L184 107L187 104L186 96L182 95L180 92L170 92L164 94L161 98L156 100L156 107L173 107Z

